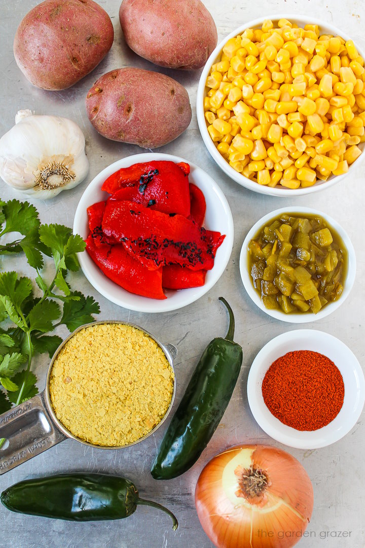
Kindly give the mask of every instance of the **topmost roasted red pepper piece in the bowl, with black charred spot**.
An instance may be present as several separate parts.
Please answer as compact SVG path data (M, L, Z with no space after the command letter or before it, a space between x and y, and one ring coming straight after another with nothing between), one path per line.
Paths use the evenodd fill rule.
M112 199L130 200L163 213L188 217L190 194L188 164L168 161L147 162L119 169L103 184Z

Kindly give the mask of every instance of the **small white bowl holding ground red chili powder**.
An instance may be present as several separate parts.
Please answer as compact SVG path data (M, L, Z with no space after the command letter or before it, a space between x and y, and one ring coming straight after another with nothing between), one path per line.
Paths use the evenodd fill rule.
M364 406L364 374L342 341L300 329L259 351L248 374L247 397L269 436L290 447L316 449L355 426Z

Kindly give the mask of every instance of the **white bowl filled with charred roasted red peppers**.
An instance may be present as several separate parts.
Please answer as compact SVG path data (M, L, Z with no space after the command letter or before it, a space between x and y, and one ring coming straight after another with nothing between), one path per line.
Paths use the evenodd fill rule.
M221 277L233 246L232 215L216 182L183 158L158 153L99 173L73 230L87 242L80 266L92 286L139 312L199 299Z

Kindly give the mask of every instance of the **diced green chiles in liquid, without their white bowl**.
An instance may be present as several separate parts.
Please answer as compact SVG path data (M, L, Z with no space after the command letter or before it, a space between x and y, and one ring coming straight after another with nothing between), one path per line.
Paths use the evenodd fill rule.
M347 250L318 215L282 214L251 240L247 267L266 308L317 313L343 291Z

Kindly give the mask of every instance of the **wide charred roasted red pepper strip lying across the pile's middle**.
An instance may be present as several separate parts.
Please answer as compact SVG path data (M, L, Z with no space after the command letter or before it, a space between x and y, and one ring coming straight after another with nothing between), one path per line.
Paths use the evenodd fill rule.
M150 269L177 262L192 270L210 270L224 239L182 215L166 215L128 201L107 202L102 231L123 242Z

